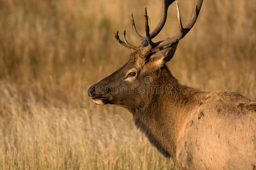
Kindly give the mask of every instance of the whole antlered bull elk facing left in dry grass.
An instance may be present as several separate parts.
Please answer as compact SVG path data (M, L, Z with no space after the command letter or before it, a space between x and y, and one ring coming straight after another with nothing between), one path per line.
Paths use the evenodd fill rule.
M162 1L159 24L150 33L145 9L146 36L135 46L115 35L119 44L131 50L129 60L113 74L88 89L99 105L126 108L149 141L167 158L175 158L183 169L255 169L256 102L230 91L203 92L181 85L166 63L177 44L193 27L203 0L195 0L191 19L181 23L177 5L179 33L153 42L164 27L168 7L175 0Z

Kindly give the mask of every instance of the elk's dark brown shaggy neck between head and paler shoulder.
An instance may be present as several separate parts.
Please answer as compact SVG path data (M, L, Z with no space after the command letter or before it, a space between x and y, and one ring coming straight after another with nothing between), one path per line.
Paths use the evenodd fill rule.
M142 107L130 111L135 125L146 134L152 145L164 156L175 158L177 134L189 111L200 102L199 95L204 92L179 84L167 66L159 70L155 83L171 88L164 94L150 94L143 100Z

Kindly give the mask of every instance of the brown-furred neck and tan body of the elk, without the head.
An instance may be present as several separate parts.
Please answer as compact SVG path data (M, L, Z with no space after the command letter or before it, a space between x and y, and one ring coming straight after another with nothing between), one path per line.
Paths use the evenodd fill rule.
M165 80L171 77L167 73ZM184 169L253 169L255 108L254 101L234 92L199 92L177 83L174 95L154 96L134 119L153 145Z

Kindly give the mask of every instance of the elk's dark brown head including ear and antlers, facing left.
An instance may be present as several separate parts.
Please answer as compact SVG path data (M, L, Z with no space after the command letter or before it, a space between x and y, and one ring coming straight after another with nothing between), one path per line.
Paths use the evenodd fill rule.
M175 0L162 1L162 16L159 24L154 31L150 33L148 26L147 8L145 8L145 31L146 36L141 36L135 27L133 14L131 14L131 22L135 35L142 40L142 44L134 46L130 44L125 37L126 32L123 32L123 41L119 39L118 32L115 34L115 39L131 50L129 60L120 69L113 74L102 79L100 82L91 86L88 90L88 95L96 104L117 104L121 105L130 111L134 108L141 108L155 94L154 90L147 90L147 87L162 84L161 70L167 69L166 63L174 56L177 44L196 22L197 16L203 0L195 0L191 19L184 28L181 23L180 10L177 5L177 19L180 32L166 40L153 42L152 39L164 27L167 18L167 10ZM168 70L168 69L167 69ZM173 78L173 82L176 79ZM144 90L143 90L144 88ZM164 87L163 87L164 88ZM152 88L151 88L152 89Z

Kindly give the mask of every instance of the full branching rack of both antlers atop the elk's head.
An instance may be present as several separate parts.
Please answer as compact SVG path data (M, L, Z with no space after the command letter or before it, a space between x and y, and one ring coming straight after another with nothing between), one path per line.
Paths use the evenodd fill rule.
M142 44L137 47L134 45L131 45L125 38L125 31L123 32L123 41L121 41L119 39L118 36L118 32L115 34L115 39L117 39L117 41L122 44L123 46L126 46L126 48L135 50L137 52L139 52L141 54L141 57L146 57L146 55L154 50L158 50L160 48L163 48L164 46L170 46L171 44L173 44L174 42L177 42L179 40L181 40L188 32L189 30L193 27L193 25L196 23L196 19L197 16L199 15L203 0L195 0L195 5L193 7L193 12L191 15L191 19L189 20L187 26L185 28L183 28L182 23L181 23L181 16L180 16L180 9L179 9L179 5L176 2L177 5L177 19L178 19L178 23L179 23L179 29L180 32L174 36L174 37L170 37L167 38L166 40L154 43L152 41L152 39L158 35L158 33L162 30L162 28L164 27L164 24L166 23L166 19L167 19L167 11L168 11L168 7L172 4L172 2L174 2L175 0L163 0L162 2L162 15L161 15L161 19L160 22L158 23L158 25L156 26L156 28L154 29L154 31L152 31L150 33L150 28L148 26L148 16L147 16L147 8L145 8L145 31L146 31L146 37L143 37L141 35L139 35L136 27L135 27L135 23L134 23L134 18L133 18L133 14L131 14L131 23L133 25L133 31L135 33L135 35L137 35L137 37L139 39L142 40Z

